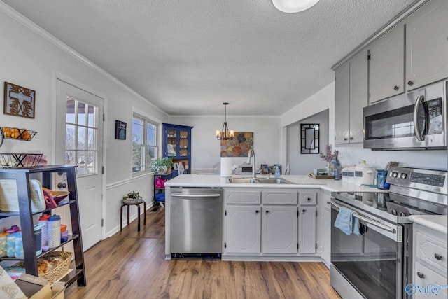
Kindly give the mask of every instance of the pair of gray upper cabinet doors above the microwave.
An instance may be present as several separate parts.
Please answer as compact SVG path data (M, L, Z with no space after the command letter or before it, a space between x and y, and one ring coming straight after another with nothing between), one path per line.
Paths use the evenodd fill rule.
M448 3L432 0L369 48L369 104L448 78Z

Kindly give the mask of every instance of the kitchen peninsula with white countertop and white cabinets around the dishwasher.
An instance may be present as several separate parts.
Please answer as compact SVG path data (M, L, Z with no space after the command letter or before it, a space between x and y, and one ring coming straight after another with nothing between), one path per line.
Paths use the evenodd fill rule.
M377 189L304 175L281 178L290 183L229 183L228 178L201 174L181 175L167 181L166 258L176 253L171 246L171 221L181 216L172 214L173 200L180 200L172 194L179 188L197 188L194 190L216 190L223 194L220 251L223 260L312 260L329 266L330 233L324 227L329 225L331 192ZM185 214L188 213L182 216Z

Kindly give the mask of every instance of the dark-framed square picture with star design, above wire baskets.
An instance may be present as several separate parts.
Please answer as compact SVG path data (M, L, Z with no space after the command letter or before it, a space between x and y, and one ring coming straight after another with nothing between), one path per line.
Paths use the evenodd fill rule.
M34 118L36 91L5 82L3 113L23 118Z

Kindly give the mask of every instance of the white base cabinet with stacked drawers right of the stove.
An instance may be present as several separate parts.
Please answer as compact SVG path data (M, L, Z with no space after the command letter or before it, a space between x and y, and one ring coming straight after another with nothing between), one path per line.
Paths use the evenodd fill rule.
M421 288L447 284L447 234L414 223L413 239L413 284ZM439 292L436 296L416 290L412 298L447 298L447 288Z

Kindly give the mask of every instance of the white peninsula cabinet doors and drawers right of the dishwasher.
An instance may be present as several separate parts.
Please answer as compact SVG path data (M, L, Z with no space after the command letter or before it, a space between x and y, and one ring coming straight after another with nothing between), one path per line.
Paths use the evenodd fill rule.
M301 190L260 189L260 201L250 190L224 190L223 255L315 256L317 190L304 190L303 205Z

